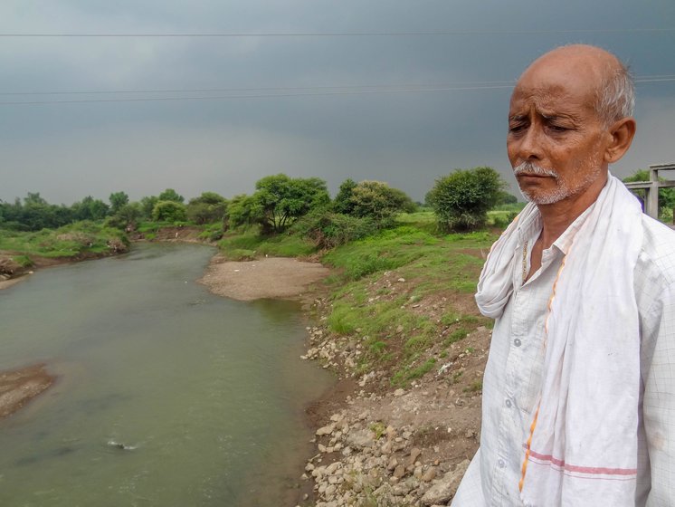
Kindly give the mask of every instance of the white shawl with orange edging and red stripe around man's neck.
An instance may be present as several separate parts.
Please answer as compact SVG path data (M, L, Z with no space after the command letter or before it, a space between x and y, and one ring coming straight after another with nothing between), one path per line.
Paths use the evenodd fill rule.
M490 251L480 274L480 311L499 318L518 270L518 222ZM523 442L521 500L528 506L635 505L640 330L633 272L642 246L642 210L610 175L582 215L547 314L546 357L537 421Z

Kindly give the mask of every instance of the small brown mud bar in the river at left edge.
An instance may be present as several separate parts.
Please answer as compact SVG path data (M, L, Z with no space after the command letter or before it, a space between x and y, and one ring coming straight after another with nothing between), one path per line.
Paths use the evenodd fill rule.
M43 364L0 372L0 418L14 414L53 381Z

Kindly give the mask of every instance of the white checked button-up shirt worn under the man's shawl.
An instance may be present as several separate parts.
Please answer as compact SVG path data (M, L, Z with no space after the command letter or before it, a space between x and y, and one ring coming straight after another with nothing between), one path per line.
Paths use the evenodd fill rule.
M524 284L540 220L521 230L519 248L528 245L525 263L514 266L514 291L492 333L483 379L480 449L453 507L522 504L518 481L542 381L547 302L574 237L573 226L543 252L541 268ZM635 504L656 507L675 505L675 233L647 215L642 227L634 273L642 340Z

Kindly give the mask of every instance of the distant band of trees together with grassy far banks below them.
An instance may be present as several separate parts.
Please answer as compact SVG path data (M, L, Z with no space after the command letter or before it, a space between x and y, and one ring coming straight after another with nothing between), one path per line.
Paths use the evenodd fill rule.
M0 250L28 256L24 263L31 255L104 254L119 251L129 237L152 240L162 228L177 226L220 242L232 258L309 255L392 229L402 214L416 216L430 234L471 230L490 224L490 218L493 225L505 225L517 210L488 215L493 205L516 201L503 187L494 170L478 167L440 179L430 191L429 208L385 182L347 179L331 199L322 179L285 174L261 178L251 195L226 199L204 192L187 203L173 188L135 202L123 191L111 193L108 202L85 196L71 206L28 193L14 203L0 201Z

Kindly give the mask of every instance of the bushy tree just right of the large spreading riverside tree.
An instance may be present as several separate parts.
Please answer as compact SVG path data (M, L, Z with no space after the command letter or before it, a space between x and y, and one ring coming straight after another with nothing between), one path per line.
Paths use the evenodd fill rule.
M413 200L403 190L389 187L381 181L361 181L353 187L351 183L345 182L340 190L344 190L345 195L350 193L347 199L341 197L340 204L347 211L347 215L368 217L382 222L397 212L415 210Z

